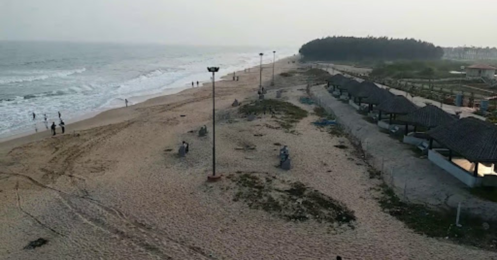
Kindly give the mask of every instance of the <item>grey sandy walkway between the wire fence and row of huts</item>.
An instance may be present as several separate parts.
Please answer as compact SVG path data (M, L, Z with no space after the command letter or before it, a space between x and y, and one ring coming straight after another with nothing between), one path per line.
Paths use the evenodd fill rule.
M336 116L344 130L357 138L366 151L368 162L377 170L384 169L383 179L400 197L404 194L415 203L456 208L485 219L497 220L497 203L485 201L469 193L469 188L427 159L419 159L413 146L381 132L363 119L350 105L335 99L324 86L311 88L311 96L329 113ZM445 105L444 105L445 108Z

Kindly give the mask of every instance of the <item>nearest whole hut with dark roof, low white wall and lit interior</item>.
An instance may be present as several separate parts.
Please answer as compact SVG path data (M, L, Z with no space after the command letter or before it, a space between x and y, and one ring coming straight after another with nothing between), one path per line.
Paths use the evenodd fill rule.
M470 187L497 186L497 127L474 117L442 124L427 132L428 159ZM433 149L433 141L444 149ZM446 151L448 149L448 151ZM448 154L444 155L444 152ZM455 155L454 155L455 154Z

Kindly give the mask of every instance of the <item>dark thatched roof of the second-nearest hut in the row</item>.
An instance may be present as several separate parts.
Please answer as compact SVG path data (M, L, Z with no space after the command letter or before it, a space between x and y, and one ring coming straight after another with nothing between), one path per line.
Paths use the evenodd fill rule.
M401 116L398 119L411 125L419 125L428 128L457 121L457 119L451 114L445 112L440 107L431 104L427 104L426 106L414 110L407 115Z

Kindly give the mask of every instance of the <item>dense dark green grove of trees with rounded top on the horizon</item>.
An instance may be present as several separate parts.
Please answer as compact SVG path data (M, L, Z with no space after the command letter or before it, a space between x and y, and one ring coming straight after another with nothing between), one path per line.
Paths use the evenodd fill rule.
M305 60L438 60L443 49L432 43L414 39L388 37L333 36L304 44L300 54Z

